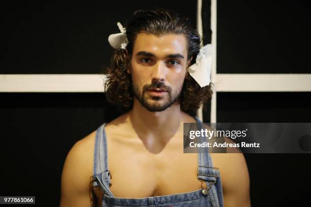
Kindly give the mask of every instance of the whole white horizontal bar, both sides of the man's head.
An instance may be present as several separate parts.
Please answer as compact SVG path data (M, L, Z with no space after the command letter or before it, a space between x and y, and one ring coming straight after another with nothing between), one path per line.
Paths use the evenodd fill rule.
M216 74L219 92L311 91L311 74ZM0 92L103 92L105 76L89 74L0 75Z

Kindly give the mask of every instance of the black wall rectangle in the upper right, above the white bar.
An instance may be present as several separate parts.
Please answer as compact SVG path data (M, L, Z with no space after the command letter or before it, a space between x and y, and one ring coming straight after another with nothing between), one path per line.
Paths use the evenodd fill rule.
M307 0L217 1L217 73L310 73Z

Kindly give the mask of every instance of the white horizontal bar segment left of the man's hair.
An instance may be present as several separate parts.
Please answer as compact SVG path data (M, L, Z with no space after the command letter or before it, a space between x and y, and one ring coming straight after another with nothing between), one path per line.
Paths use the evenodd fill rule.
M0 75L0 92L102 92L104 79L89 74Z

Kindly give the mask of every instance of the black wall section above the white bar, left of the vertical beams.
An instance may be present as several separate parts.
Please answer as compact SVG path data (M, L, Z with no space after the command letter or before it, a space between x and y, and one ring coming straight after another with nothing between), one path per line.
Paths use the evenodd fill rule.
M98 74L109 65L108 36L118 33L138 9L167 8L189 16L196 26L195 4L179 1L26 1L5 3L6 67L0 74Z

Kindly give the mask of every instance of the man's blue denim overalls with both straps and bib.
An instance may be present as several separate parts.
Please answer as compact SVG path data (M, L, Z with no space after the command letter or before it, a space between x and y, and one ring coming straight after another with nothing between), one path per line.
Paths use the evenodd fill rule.
M195 118L201 126L202 122L197 117ZM101 125L96 132L93 177L93 185L95 187L100 187L104 192L102 206L216 207L224 205L219 170L213 168L209 153L199 153L198 155L198 179L202 182L202 189L200 190L133 199L114 197L109 189L110 172L107 162L105 123Z

